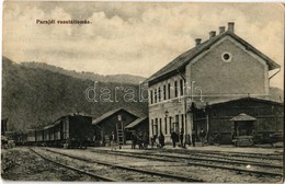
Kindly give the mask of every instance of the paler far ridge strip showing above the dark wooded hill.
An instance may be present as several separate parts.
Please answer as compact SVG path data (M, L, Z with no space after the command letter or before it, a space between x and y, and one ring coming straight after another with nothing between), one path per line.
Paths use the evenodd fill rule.
M139 84L146 80L146 78L139 76L132 76L132 74L112 74L112 76L102 76L96 74L89 71L75 71L75 70L66 70L60 67L50 66L44 62L21 62L21 66L34 69L44 69L49 70L53 72L58 72L61 74L70 76L78 79L89 79L92 81L101 81L101 82L115 82L115 83L132 83L132 84Z

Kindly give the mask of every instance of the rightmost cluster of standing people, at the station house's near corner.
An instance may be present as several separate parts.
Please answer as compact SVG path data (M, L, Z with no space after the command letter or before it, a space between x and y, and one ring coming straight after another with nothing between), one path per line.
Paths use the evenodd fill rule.
M206 133L204 131L203 128L201 128L198 137L201 140L202 147L203 147L205 143L205 137L206 137ZM185 140L184 140L184 133L183 133L183 129L181 129L180 134L176 134L175 131L172 130L170 138L172 140L173 148L176 147L176 142L180 142L180 146L182 148L186 148L186 145L189 145L189 146L192 145L193 147L195 147L197 135L196 135L195 130L193 129L192 135L191 136L189 134L185 135Z

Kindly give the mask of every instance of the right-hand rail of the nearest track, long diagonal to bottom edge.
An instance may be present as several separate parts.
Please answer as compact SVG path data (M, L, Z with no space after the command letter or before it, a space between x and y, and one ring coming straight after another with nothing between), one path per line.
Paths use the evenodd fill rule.
M96 164L101 164L101 165L105 165L105 166L111 166L112 169L132 171L132 172L151 175L151 176L160 176L161 179L170 179L170 181L175 181L175 182L178 182L178 181L180 181L180 182L203 182L202 180L196 180L196 179L175 175L175 174L169 174L169 173L164 173L164 172L138 169L138 168L133 168L133 166L126 166L126 165L121 165L121 164L103 162L103 161L99 161L99 160L91 160L91 159L87 159L87 158L70 156L70 154L67 154L67 153L57 152L57 151L49 150L49 149L43 149L43 150L49 151L52 153L56 153L56 154L59 154L59 156L68 157L70 159L76 159L76 160L80 160L80 161L83 161L83 162L88 162L88 163L96 163Z

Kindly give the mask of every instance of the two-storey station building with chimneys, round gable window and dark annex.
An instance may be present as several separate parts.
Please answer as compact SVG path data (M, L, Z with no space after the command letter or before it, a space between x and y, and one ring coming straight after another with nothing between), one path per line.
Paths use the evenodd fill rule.
M150 136L162 133L170 142L171 131L197 135L203 128L208 141L228 143L237 131L231 119L240 114L255 119L252 131L261 137L282 131L284 104L270 96L270 80L280 69L235 34L233 22L209 32L205 42L196 38L194 48L146 80Z

